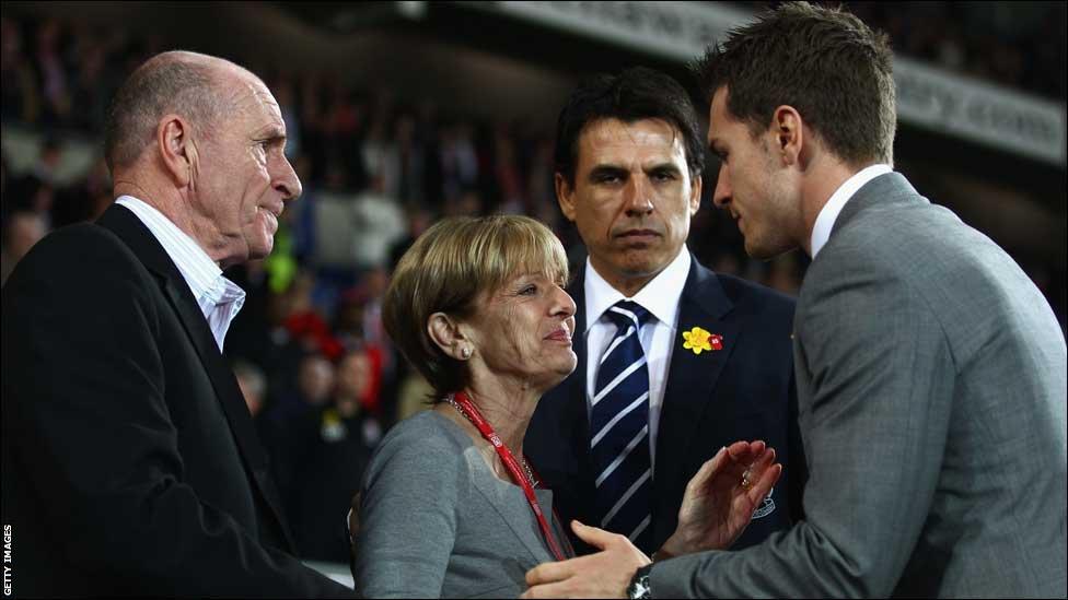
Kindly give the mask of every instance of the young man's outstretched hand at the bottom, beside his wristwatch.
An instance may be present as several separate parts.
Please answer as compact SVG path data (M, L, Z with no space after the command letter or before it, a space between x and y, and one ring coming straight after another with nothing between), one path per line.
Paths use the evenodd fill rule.
M530 589L520 598L626 598L630 579L649 557L618 533L579 521L571 521L571 530L601 552L532 568L526 572Z

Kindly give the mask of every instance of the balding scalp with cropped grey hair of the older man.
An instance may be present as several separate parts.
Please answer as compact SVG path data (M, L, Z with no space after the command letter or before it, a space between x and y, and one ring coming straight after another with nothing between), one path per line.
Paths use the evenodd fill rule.
M115 94L104 125L104 158L112 173L132 165L152 145L165 115L179 115L198 134L209 134L231 102L228 74L255 79L229 60L197 52L163 52L138 67Z

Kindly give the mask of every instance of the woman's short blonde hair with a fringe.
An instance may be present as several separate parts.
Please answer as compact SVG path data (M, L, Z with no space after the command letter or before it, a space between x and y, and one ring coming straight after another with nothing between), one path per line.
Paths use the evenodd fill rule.
M427 230L393 272L382 305L390 337L427 378L438 399L468 383L465 364L430 339L434 313L469 318L479 296L521 273L568 280L564 246L548 227L527 216L452 217Z

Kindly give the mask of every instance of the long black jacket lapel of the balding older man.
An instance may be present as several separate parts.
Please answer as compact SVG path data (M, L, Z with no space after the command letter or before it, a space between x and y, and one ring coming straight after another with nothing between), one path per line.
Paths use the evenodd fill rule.
M222 404L245 469L253 475L249 479L274 511L286 542L293 548L292 537L280 517L280 502L269 485L267 456L259 445L241 388L237 387L233 370L219 352L208 321L193 297L189 285L160 243L132 212L113 204L100 217L98 224L118 235L161 281L163 294L178 316L211 380L216 397Z

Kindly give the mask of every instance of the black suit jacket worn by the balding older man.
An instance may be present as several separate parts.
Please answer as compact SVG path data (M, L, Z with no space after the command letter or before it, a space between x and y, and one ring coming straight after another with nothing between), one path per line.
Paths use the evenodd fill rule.
M233 373L130 211L38 243L2 318L14 595L351 593L290 554Z

